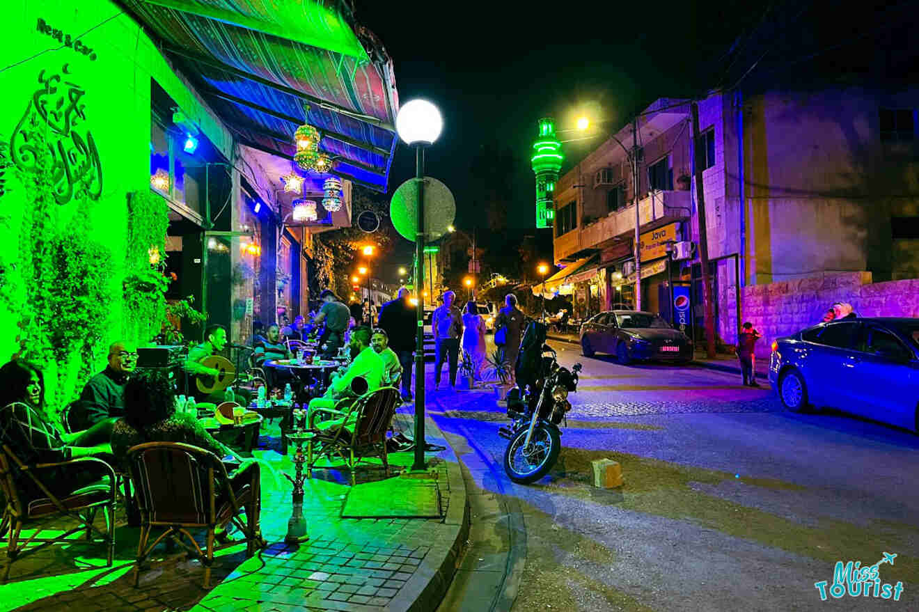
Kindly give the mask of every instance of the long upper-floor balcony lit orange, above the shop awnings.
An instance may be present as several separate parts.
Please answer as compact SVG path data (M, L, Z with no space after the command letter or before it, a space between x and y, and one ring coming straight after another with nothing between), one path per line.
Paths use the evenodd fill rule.
M674 221L685 221L691 214L691 206L689 191L655 191L639 200L641 231L647 232ZM634 232L635 209L627 206L615 210L555 238L555 261L568 264L593 255L623 239L634 237Z

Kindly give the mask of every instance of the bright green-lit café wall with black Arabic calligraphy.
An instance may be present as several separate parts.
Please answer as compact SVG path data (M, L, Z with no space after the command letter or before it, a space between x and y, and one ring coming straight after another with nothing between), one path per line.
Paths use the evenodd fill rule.
M222 153L230 156L233 140L141 28L123 14L122 6L107 0L13 0L6 5L5 20L0 153L8 167L6 192L0 195L5 246L0 250L0 362L23 348L30 357L49 357L41 364L48 381L46 396L61 404L74 399L87 371L104 366L110 342L144 342L156 326L138 320L122 300L128 194L146 194L150 188L151 78L198 121ZM28 180L24 185L18 176L39 176L28 172L35 165L28 147L41 135L54 147L51 186L34 187ZM45 198L37 199L42 190ZM84 305L100 295L110 299L78 311L91 312L101 322L85 325L100 329L90 355L61 354L49 340L61 335L53 323L25 325L28 337L23 333L24 313L36 311L34 303L27 303L34 301L27 300L35 293L34 287L29 289L34 270L22 265L23 254L45 244L41 236L51 235L57 244L69 246L59 248L56 258L34 258L49 260L45 278L62 279L59 287L48 290L58 296L86 294L79 302ZM71 265L76 275L68 277ZM91 286L79 278L81 270L93 279ZM95 274L101 275L97 281ZM45 312L44 319L68 320L65 314L60 309ZM84 333L80 325L71 327L69 334ZM36 352L41 346L43 352ZM82 366L86 362L88 367Z

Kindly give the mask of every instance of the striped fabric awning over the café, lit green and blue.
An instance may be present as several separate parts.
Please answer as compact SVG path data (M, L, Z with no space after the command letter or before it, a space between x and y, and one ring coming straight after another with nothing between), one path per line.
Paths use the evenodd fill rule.
M386 191L399 100L372 33L328 0L121 0L243 144L293 158L309 123L332 173Z

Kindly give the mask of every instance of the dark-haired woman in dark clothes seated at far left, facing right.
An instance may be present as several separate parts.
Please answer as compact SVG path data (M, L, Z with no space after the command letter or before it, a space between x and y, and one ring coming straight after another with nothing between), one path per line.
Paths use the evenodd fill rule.
M8 446L26 465L59 463L76 457L111 454L106 444L90 445L98 439L101 429L111 430L111 425L95 425L87 431L64 433L45 413L45 385L41 370L27 361L10 361L0 368L0 444ZM79 489L97 480L97 474L59 469L41 470L41 482L60 494ZM21 479L29 499L46 495L29 478Z

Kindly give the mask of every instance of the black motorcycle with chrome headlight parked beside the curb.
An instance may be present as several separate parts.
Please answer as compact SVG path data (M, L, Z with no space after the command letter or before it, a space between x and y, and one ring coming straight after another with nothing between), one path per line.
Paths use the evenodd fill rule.
M581 371L579 363L570 370L560 366L555 350L544 344L545 338L545 325L529 323L517 357L516 387L507 393L511 425L498 429L498 436L507 440L505 472L522 484L538 481L559 459L559 425L572 409L568 394L577 391Z

